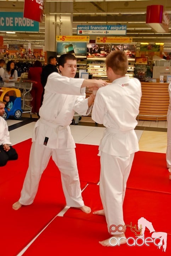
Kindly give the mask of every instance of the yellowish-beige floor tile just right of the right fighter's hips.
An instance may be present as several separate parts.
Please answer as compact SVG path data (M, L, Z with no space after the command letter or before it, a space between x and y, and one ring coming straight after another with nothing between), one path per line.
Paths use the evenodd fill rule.
M139 140L139 150L166 153L167 133L143 131Z

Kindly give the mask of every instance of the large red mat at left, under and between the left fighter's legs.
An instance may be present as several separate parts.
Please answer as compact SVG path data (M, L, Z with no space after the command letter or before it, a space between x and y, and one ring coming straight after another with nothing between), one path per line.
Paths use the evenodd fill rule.
M3 256L17 255L65 207L60 172L50 159L49 165L42 175L34 203L22 207L18 211L12 209L12 204L20 197L27 171L28 161L25 164L23 161L21 162L21 159L24 159L22 152L25 154L23 148L29 148L30 145L30 140L17 144L15 148L18 147L20 161L16 160L15 165L14 161L9 161L6 165L7 169L0 173L0 177L3 178L0 185L0 201L1 206L3 205L0 211L0 229L3 234L0 239L0 255ZM5 177L12 162L13 170ZM18 166L21 167L19 170ZM86 182L80 183L81 188L87 184Z

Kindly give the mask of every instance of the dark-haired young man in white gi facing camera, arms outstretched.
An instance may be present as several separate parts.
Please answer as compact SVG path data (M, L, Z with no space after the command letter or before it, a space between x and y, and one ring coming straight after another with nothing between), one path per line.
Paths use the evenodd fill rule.
M82 201L75 143L69 124L72 122L74 111L80 115L88 115L91 111L95 96L92 94L85 99L84 87L97 89L106 85L106 82L74 79L76 58L72 54L62 55L58 65L62 75L52 73L48 76L43 104L39 111L40 119L34 128L28 171L21 197L13 204L13 209L18 210L22 205L33 203L42 172L52 156L61 172L67 206L90 213L91 209Z

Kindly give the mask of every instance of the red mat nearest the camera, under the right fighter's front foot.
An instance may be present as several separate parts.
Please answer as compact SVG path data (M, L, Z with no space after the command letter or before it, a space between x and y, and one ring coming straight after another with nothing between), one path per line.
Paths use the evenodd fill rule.
M126 231L127 237L135 238L132 232ZM57 217L40 234L33 244L25 251L24 256L47 255L165 255L170 256L171 236L167 238L166 252L150 246L103 247L98 241L108 238L106 227L102 223L89 222L80 219ZM130 241L131 244L132 241Z

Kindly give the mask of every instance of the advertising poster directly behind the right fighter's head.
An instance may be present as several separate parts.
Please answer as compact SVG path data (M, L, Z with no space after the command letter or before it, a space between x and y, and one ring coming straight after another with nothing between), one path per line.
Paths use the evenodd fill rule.
M135 44L112 44L111 51L121 50L127 54L128 59L134 60L136 54Z

